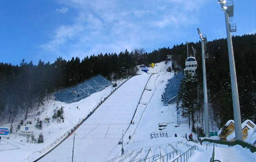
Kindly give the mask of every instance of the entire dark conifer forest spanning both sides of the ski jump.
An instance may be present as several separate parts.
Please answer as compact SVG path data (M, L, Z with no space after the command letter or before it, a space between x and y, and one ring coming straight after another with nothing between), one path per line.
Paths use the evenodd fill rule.
M197 82L184 80L178 95L178 107L187 108L184 114L194 123L203 123L202 93L202 58L200 42L190 43L196 51L198 69ZM256 122L256 35L233 37L237 82L242 120L251 119ZM227 40L216 39L207 44L209 58L206 60L206 76L208 86L208 102L213 120L222 127L227 120L233 118L231 81L229 76L229 57ZM166 60L166 55L173 56L173 70L183 70L186 60L186 44L173 48L161 48L153 52L143 49L119 54L99 54L64 60L57 58L54 63L42 62L33 64L21 60L19 66L0 63L0 115L6 122L12 122L27 114L52 98L54 92L68 86L74 86L91 76L101 74L109 80L118 80L135 75L136 65L149 65ZM8 118L6 117L8 116ZM195 128L194 128L195 129Z

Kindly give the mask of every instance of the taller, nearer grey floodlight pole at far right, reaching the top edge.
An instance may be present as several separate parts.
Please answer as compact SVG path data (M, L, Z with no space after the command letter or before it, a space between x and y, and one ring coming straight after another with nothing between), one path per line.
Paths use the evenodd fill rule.
M228 49L229 49L229 68L231 71L233 114L234 114L234 120L235 120L235 138L237 140L243 141L239 94L238 94L238 88L237 88L237 74L235 71L235 58L234 58L233 44L232 44L232 37L231 37L231 32L237 31L237 26L229 22L229 17L233 17L234 15L234 5L233 5L233 1L229 1L228 5L227 5L227 1L225 0L218 0L218 3L221 5L222 11L224 11L225 13L227 42L228 42Z

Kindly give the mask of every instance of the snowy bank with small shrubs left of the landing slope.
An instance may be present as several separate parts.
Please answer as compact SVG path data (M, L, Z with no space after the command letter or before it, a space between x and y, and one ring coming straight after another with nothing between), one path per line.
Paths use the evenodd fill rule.
M119 80L117 84L121 84L123 81ZM29 114L27 120L31 121L32 125L26 124L30 127L34 127L36 124L36 118L40 118L43 120L42 127L43 129L34 128L35 137L37 138L40 133L44 135L44 143L42 144L34 144L27 143L27 138L23 135L19 135L19 131L17 133L13 133L10 135L9 139L2 138L0 143L0 155L1 160L3 161L33 161L37 157L40 157L43 153L46 153L51 147L53 143L58 143L58 139L62 139L63 135L70 131L75 125L79 123L82 118L86 117L87 114L92 111L100 102L104 100L114 88L109 86L102 90L101 92L94 93L90 95L88 98L84 98L84 100L80 100L79 102L74 102L71 104L66 104L64 102L59 102L56 100L50 100L46 102L44 106L40 106L37 112L33 114ZM52 116L54 114L54 109L58 110L60 107L64 109L64 123L58 123L57 120L53 120ZM37 115L40 112L40 115ZM46 123L44 118L51 118L50 123ZM5 127L9 127L9 125L5 125ZM14 132L17 128L17 123L13 123ZM30 138L29 138L30 140ZM15 155L15 156L12 156Z

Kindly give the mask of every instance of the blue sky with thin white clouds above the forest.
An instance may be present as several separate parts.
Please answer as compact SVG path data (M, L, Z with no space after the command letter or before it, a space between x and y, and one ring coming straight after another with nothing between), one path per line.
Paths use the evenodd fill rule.
M217 0L1 0L0 62L146 52L226 37ZM256 0L234 0L237 32L256 32Z

